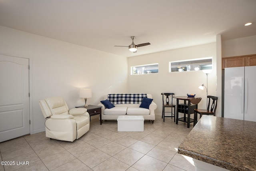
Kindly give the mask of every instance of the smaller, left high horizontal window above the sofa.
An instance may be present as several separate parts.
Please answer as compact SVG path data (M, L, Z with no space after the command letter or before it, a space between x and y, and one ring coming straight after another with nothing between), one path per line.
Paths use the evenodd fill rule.
M158 64L148 64L131 67L131 75L158 73Z

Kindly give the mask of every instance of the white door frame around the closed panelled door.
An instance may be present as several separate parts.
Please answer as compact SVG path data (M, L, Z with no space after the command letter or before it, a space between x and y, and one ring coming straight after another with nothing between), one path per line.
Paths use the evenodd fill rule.
M5 56L10 56L10 57L16 57L16 58L26 58L28 59L29 62L29 70L28 70L28 88L29 88L29 120L30 120L30 134L34 133L34 128L33 128L33 91L32 91L32 57L26 56L24 57L23 55L12 55L12 54L4 54L0 53L0 55L5 55Z

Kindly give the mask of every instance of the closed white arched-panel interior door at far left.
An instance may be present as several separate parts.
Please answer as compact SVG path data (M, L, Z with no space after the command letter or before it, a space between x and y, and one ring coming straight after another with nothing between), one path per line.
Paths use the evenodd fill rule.
M0 55L0 142L30 133L29 59Z

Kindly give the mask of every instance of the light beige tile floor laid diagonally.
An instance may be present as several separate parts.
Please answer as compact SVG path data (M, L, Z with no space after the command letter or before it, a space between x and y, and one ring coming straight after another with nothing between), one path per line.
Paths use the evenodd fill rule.
M156 116L153 124L145 121L144 132L118 132L117 121L92 119L90 131L74 142L42 132L0 143L1 161L13 164L0 171L194 171L191 158L177 153L192 128Z

